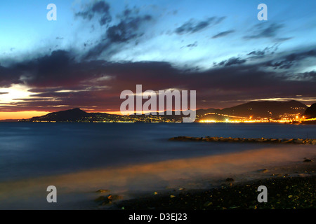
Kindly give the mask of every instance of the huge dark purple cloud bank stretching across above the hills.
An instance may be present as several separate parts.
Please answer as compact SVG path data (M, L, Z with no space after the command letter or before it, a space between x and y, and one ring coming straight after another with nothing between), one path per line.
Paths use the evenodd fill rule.
M175 68L168 62L76 62L70 52L57 51L11 67L29 74L24 83L33 87L29 90L32 98L1 106L0 111L74 107L119 111L121 91L135 92L137 84L142 84L144 91L197 90L198 108L220 108L269 97L315 97L315 71L289 78L287 73L265 71L261 65L245 64L244 59L233 57L223 66L199 71Z

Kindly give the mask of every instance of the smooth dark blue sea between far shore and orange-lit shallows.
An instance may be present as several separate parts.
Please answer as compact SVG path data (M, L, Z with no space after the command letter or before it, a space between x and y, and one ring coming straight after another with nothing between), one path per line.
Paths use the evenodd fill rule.
M257 150L264 144L168 141L177 136L315 138L315 125L0 123L0 181Z

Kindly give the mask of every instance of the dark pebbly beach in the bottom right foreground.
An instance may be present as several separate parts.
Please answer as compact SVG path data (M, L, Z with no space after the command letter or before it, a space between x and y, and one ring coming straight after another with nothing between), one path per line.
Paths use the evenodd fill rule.
M284 170L290 171L290 170ZM291 170L293 171L293 170ZM272 174L268 179L235 183L227 179L209 190L175 189L114 202L107 209L125 210L223 210L223 209L315 209L315 162L301 166L296 174ZM258 202L258 186L268 188L268 202Z

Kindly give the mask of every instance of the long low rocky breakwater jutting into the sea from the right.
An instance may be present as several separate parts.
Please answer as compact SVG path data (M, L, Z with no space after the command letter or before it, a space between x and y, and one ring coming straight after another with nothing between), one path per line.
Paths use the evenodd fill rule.
M212 141L212 142L249 142L269 144L310 144L316 145L316 139L266 139L266 138L224 138L224 137L173 137L169 141Z

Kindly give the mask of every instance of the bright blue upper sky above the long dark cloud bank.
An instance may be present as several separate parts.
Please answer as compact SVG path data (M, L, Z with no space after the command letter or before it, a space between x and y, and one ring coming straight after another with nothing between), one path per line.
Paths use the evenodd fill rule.
M50 50L83 50L84 43L98 41L103 27L98 18L84 23L74 14L93 1L8 1L0 3L1 58L20 57ZM268 21L258 21L258 3L268 6ZM46 20L46 6L55 3L58 20ZM251 50L279 45L279 51L304 48L316 36L315 1L108 1L113 15L125 7L140 8L140 13L150 13L153 21L146 27L142 44L122 46L111 57L100 55L99 59L131 61L167 61L176 64L197 64L209 68L213 62L230 57L246 55ZM192 20L197 24L207 18L225 17L223 22L206 27L192 34L176 34L173 31ZM115 23L115 18L113 18ZM282 27L275 36L246 39L256 25L277 23ZM92 31L91 26L95 29ZM220 32L231 31L227 36L212 38ZM56 39L57 38L57 39ZM291 38L282 41L282 38ZM90 43L89 42L89 43ZM186 47L192 45L192 47Z

